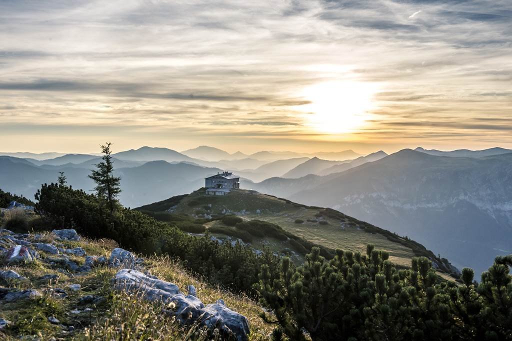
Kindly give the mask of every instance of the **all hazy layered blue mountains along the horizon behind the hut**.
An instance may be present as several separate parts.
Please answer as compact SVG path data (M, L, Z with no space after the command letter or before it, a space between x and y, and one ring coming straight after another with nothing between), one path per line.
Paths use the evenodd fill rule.
M208 151L223 158L207 158L202 153ZM407 235L459 268L482 271L497 254L512 252L511 150L443 152L418 147L340 161L322 159L322 153L310 157L264 151L247 156L207 146L184 153L141 147L114 154L115 172L122 178L121 202L135 207L190 193L204 185L203 178L227 169L241 177L242 188L338 209ZM27 157L0 156L3 190L32 199L42 183L56 181L58 172L65 172L74 188L94 187L88 175L98 156L67 154L40 160L21 155Z

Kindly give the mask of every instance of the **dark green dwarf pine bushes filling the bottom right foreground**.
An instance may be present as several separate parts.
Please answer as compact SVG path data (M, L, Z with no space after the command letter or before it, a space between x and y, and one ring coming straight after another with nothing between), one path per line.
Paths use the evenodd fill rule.
M512 335L512 255L497 257L482 274L462 270L463 285L439 280L425 257L398 270L389 253L336 250L328 261L318 248L299 267L283 258L263 265L259 292L289 339L508 340Z

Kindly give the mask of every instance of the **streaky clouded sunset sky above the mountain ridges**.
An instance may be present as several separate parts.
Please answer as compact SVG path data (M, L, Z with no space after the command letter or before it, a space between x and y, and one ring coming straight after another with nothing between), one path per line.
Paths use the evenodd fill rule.
M0 0L0 150L512 147L512 2Z

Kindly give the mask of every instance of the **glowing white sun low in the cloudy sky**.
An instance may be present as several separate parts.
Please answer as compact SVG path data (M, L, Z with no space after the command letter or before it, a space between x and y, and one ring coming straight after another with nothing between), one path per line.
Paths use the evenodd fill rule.
M371 118L377 86L360 81L329 81L303 89L309 104L301 105L308 124L318 132L356 131Z

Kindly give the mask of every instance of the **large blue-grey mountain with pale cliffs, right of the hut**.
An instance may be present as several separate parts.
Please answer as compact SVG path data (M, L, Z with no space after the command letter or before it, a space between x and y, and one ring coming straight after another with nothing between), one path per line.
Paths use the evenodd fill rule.
M459 268L483 271L496 255L512 252L512 154L464 158L403 150L342 173L241 187L378 222Z

